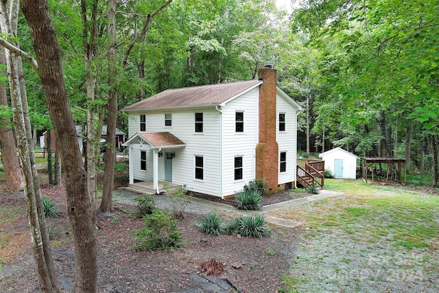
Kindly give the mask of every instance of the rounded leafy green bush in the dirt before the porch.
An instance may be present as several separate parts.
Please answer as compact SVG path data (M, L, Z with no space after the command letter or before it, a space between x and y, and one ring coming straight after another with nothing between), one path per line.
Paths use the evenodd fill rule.
M154 209L151 215L143 218L141 230L134 231L139 244L134 250L167 250L183 245L182 231L177 227L177 220L171 219L171 213L163 209Z

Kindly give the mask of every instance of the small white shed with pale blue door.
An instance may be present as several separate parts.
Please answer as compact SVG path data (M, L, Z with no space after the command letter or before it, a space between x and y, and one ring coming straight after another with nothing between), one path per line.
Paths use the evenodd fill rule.
M342 148L333 148L327 152L322 152L318 156L324 161L325 169L331 170L335 178L356 178L357 159L359 157L355 154Z

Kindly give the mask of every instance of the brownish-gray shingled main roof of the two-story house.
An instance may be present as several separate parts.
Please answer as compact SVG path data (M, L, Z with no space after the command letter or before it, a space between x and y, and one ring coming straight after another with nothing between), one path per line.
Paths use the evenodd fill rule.
M261 80L246 82L230 82L224 84L209 84L206 86L191 86L180 89L168 89L143 101L123 108L127 110L145 110L158 108L181 108L190 106L217 106L228 99L261 84Z

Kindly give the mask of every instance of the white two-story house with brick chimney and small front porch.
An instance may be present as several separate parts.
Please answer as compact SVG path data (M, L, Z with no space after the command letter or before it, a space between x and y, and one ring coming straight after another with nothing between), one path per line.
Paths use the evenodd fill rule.
M276 86L276 71L259 80L169 89L122 109L128 113L130 184L166 181L224 198L250 180L269 188L296 181L294 100Z

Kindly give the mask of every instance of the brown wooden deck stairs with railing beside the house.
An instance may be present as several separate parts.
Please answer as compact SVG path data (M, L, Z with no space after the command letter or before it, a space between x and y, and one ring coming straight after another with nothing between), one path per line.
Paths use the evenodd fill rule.
M324 161L298 159L296 181L302 187L316 185L323 188L324 185Z

